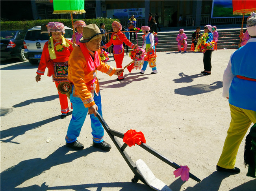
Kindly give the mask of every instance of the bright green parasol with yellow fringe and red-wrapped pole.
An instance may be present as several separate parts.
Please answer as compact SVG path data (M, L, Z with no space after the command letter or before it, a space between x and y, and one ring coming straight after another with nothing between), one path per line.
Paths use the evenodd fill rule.
M84 0L53 0L53 9L53 14L70 13L73 28L73 43L75 43L75 28L72 14L86 13L84 10Z

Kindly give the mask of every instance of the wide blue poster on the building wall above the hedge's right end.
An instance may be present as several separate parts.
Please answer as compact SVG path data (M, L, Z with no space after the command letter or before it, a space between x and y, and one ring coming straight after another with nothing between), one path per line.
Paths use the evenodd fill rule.
M108 9L108 18L127 19L134 15L135 18L145 18L145 8Z

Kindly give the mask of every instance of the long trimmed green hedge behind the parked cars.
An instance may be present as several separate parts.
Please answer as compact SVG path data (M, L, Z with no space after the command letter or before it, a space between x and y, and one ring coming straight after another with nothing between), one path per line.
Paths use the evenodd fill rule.
M111 18L94 18L94 19L74 19L74 22L76 20L83 20L86 25L89 24L96 24L98 27L100 27L100 23L105 24L106 30L111 30L111 24L114 20L117 19L111 19ZM119 22L119 20L117 20ZM41 26L42 24L47 24L48 22L61 22L65 26L72 28L72 22L71 19L49 19L49 20L28 20L28 21L6 21L6 22L0 22L1 25L1 31L4 30L14 30L14 29L30 29L35 26Z

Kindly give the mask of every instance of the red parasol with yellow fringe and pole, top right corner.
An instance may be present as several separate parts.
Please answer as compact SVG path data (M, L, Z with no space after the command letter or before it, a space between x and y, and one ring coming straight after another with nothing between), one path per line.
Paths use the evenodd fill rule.
M249 15L251 12L256 11L256 1L255 0L232 0L233 4L233 15L243 15L243 20L245 18L245 15ZM243 21L242 21L242 27L241 30L243 30ZM241 43L240 38L240 43Z

